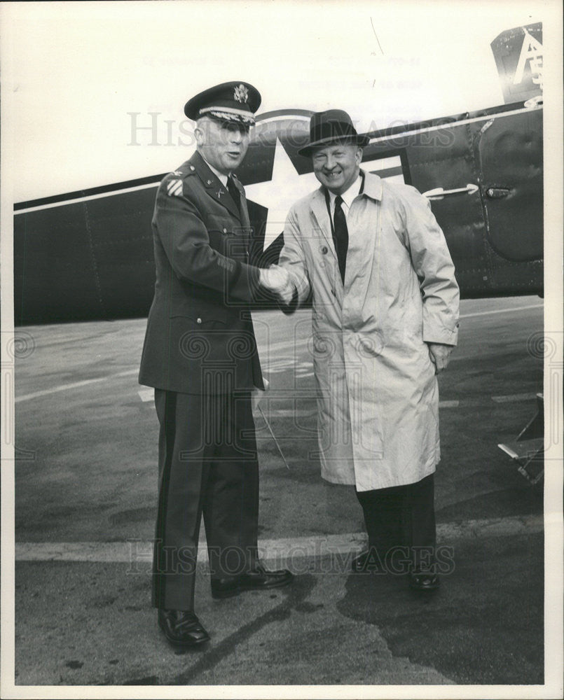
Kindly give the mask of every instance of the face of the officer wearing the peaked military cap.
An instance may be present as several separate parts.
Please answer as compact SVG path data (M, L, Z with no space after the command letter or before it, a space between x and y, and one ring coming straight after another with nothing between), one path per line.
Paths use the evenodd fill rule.
M222 175L237 169L249 148L249 127L202 117L194 130L198 151Z

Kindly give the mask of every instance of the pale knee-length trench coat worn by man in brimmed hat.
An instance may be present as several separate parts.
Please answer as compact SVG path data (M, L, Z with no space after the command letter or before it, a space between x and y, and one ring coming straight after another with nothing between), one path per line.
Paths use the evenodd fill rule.
M312 293L322 477L370 491L435 470L439 391L426 343L456 344L459 293L415 188L364 174L347 225L344 285L322 188L289 211L280 265L298 303Z

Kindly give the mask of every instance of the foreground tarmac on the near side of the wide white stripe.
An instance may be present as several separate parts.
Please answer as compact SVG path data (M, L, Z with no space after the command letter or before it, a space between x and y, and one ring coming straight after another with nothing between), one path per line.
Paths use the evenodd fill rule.
M202 570L197 612L212 640L195 652L158 632L149 566L20 561L16 682L542 684L542 531L531 529L448 540L455 570L431 594L310 558L294 561L303 573L289 587L214 601Z

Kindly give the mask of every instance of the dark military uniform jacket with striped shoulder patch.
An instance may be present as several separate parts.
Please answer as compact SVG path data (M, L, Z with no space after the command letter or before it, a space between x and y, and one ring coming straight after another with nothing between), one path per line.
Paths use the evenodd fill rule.
M250 304L259 269L252 230L196 152L160 183L153 214L156 283L139 383L183 393L263 388Z

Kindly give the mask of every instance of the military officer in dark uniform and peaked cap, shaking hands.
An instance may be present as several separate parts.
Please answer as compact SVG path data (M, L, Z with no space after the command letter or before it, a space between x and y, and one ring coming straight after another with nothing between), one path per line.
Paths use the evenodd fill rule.
M174 645L209 639L194 612L204 517L212 596L282 587L288 570L257 556L259 471L251 393L263 388L250 307L282 271L249 262L245 191L233 171L261 96L222 83L188 100L197 151L160 183L153 214L156 284L139 382L160 423L153 606Z

